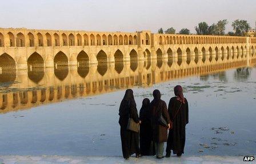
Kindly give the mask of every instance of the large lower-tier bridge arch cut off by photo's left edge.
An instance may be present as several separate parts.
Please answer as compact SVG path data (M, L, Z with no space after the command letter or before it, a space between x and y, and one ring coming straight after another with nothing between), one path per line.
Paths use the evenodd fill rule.
M15 70L16 64L14 59L9 54L0 55L0 68L4 70Z

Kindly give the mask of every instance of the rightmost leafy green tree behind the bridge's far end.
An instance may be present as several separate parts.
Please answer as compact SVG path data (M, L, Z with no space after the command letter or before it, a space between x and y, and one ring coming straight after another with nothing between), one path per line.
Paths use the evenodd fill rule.
M250 29L250 25L246 20L239 20L236 19L234 22L232 22L233 30L235 31L235 35L237 36L243 36L245 33L248 32Z

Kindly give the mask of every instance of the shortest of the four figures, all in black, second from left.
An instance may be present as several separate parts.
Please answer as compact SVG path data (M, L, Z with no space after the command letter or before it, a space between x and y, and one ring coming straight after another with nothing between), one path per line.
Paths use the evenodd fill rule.
M139 148L141 155L155 155L154 143L152 137L151 115L150 115L150 100L143 99L141 110L139 110Z

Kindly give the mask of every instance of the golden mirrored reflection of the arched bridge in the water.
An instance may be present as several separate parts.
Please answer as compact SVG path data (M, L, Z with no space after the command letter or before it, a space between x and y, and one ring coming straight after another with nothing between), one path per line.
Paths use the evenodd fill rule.
M255 55L202 62L182 62L179 58L158 58L145 61L99 63L87 66L60 66L4 71L0 74L0 113L29 109L64 99L103 94L133 86L152 86L154 83L191 75L216 73L226 69L254 66ZM182 59L187 61L187 59Z

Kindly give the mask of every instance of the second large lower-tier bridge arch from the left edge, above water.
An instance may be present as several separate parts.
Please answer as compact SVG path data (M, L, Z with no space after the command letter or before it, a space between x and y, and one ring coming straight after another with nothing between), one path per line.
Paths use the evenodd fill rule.
M30 55L30 57L27 59L27 68L39 68L44 66L44 61L41 55L38 53L33 53Z

